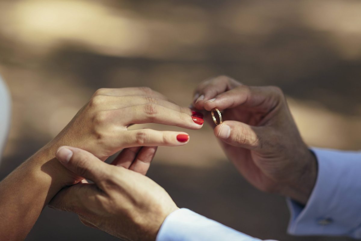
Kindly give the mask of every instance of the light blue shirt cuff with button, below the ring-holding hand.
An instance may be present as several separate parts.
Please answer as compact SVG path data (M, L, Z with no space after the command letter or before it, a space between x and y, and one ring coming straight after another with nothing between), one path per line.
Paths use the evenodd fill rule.
M305 207L290 199L288 232L361 238L361 152L312 149L316 185Z

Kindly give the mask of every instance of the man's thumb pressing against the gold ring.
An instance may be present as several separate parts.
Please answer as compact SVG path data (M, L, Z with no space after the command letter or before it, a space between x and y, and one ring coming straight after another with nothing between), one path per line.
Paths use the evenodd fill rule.
M238 121L225 121L214 128L214 135L232 146L261 149L263 127L249 126ZM262 130L262 132L261 132Z

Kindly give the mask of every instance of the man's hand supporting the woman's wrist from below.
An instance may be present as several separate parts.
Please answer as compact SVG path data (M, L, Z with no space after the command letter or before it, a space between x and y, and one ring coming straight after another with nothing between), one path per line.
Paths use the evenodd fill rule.
M125 240L155 241L165 218L178 209L162 187L142 174L78 148L61 147L56 156L71 172L94 183L64 188L49 206L77 213L89 227Z

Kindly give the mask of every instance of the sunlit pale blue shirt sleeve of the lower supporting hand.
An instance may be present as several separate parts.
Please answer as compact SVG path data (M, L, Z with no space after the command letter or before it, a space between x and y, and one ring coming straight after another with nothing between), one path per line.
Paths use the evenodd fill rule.
M179 209L172 212L164 220L156 239L156 241L203 240L261 241L188 209Z

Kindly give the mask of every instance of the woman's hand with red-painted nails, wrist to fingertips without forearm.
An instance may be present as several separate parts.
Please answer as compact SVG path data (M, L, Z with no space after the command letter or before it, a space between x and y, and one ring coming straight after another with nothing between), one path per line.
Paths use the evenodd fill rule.
M189 108L176 105L146 87L99 89L45 150L54 155L59 146L71 145L87 150L104 161L124 148L130 149L125 149L121 156L134 155L136 158L135 153L154 153L154 146L181 146L188 142L189 136L185 132L127 130L131 124L143 123L197 130L202 127L203 119L196 113L192 114ZM128 161L122 165L145 174L142 165L132 163ZM66 172L66 184L79 181L80 177L69 176Z

